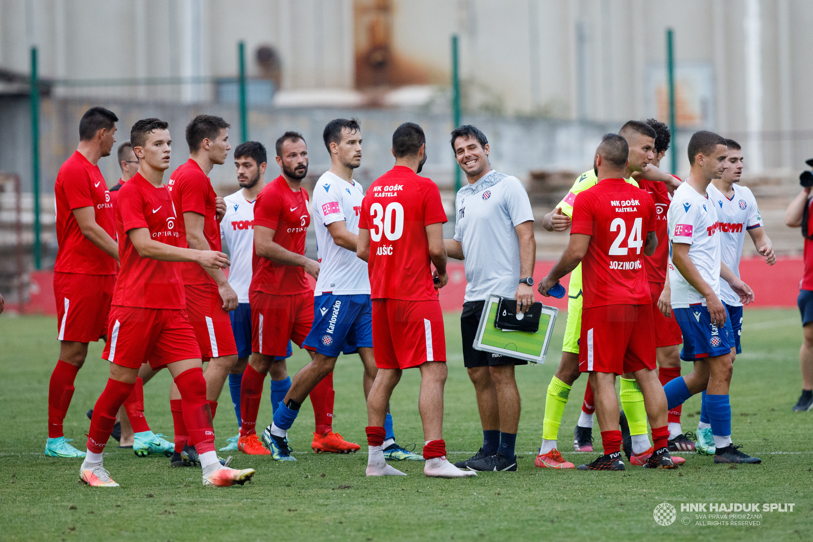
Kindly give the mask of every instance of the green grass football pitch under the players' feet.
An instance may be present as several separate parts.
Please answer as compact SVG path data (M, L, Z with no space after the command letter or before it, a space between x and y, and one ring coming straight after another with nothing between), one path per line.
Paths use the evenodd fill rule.
M257 470L243 487L204 488L200 468L171 469L163 456L136 457L111 440L105 466L120 488L89 488L77 482L80 460L46 457L47 393L58 358L53 318L0 316L0 540L811 540L813 539L813 412L793 413L800 385L802 332L795 310L749 310L731 387L735 444L759 456L761 465L715 465L711 457L686 454L677 470L624 473L542 470L533 465L541 443L546 388L559 362L564 319L544 366L521 366L516 375L523 400L517 439L519 470L480 473L473 479L427 479L423 463L394 466L406 476L367 478L364 427L367 412L357 356L339 358L334 373L333 428L362 445L353 455L311 451L310 402L289 431L297 462L234 452L233 466ZM463 368L459 314L446 318L449 379L444 437L452 462L482 444L472 384ZM102 343L91 343L65 419L65 435L85 449L85 410L102 391L108 364ZM298 350L298 349L295 349ZM289 359L289 375L306 362ZM684 365L684 374L691 370ZM258 427L271 422L266 380ZM559 431L569 461L598 456L573 453L573 427L586 379L573 386ZM172 440L168 404L170 376L161 371L145 387L146 418ZM391 401L401 445L423 445L417 397L418 371L405 371ZM684 431L694 431L699 396L683 408ZM215 419L216 443L237 432L228 384ZM654 508L669 503L676 520L662 526ZM758 518L711 512L709 503L759 503ZM793 503L793 511L762 511ZM706 512L680 505L705 504ZM785 506L785 509L788 509ZM768 506L770 509L770 506ZM720 514L720 518L709 517ZM726 516L726 517L724 517ZM742 516L742 517L739 517ZM715 524L714 522L719 522ZM736 524L759 522L759 525Z

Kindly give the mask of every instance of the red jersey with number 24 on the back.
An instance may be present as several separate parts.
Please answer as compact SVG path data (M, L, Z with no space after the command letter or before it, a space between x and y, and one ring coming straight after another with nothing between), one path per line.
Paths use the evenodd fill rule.
M576 195L571 235L591 236L581 259L585 309L652 302L642 260L646 234L657 223L652 197L623 179L601 180Z

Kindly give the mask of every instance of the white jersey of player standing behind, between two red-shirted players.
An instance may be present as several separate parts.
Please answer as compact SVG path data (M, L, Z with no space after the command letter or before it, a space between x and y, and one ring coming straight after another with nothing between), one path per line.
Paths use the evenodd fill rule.
M237 301L249 302L251 254L254 253L254 202L243 197L242 189L223 198L226 214L220 221L220 239L228 246L228 284L237 293Z

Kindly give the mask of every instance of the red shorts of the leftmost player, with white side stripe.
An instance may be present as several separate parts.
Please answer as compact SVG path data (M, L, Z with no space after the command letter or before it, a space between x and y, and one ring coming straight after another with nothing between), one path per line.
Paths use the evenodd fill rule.
M115 275L54 273L59 340L88 343L107 335Z

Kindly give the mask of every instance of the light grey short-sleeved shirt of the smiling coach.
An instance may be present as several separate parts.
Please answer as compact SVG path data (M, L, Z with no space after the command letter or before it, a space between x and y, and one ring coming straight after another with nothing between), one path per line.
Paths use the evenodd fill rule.
M516 226L533 220L531 202L516 177L491 170L467 184L454 202L454 241L463 245L465 301L496 293L513 297L520 284L520 239Z

